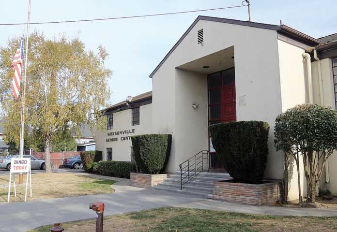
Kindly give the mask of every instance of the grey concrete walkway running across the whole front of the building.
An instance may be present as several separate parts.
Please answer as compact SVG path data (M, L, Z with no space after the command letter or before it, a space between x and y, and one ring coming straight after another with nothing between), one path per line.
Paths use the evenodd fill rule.
M337 210L333 209L285 208L226 203L160 190L135 188L130 186L129 179L86 173L78 174L118 180L119 182L113 185L116 192L32 202L0 203L0 232L25 232L54 222L94 218L95 213L89 209L89 203L92 202L105 203L105 216L176 206L260 215L337 217Z

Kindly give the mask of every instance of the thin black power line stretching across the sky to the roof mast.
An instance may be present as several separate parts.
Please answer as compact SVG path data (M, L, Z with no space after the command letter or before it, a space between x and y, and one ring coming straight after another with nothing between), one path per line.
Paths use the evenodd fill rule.
M30 25L32 24L52 24L52 23L77 23L77 22L103 21L103 20L124 19L124 18L140 18L140 17L151 17L151 16L169 15L169 14L185 14L185 13L193 13L193 12L201 12L201 11L215 11L215 10L223 10L223 9L238 8L238 7L245 7L245 5L242 4L239 6L229 6L229 7L202 9L202 10L194 10L194 11L170 12L170 13L162 13L162 14L144 14L144 15L112 17L112 18L94 18L94 19L81 19L81 20L68 20L68 21L36 22L36 23L30 23ZM28 23L0 23L0 26L27 25L27 24Z

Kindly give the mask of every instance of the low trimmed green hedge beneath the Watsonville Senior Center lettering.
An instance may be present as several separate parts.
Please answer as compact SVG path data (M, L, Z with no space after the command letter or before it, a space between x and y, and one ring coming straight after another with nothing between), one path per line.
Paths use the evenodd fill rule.
M92 171L96 174L129 179L130 173L136 171L136 165L127 161L99 161L92 163Z

